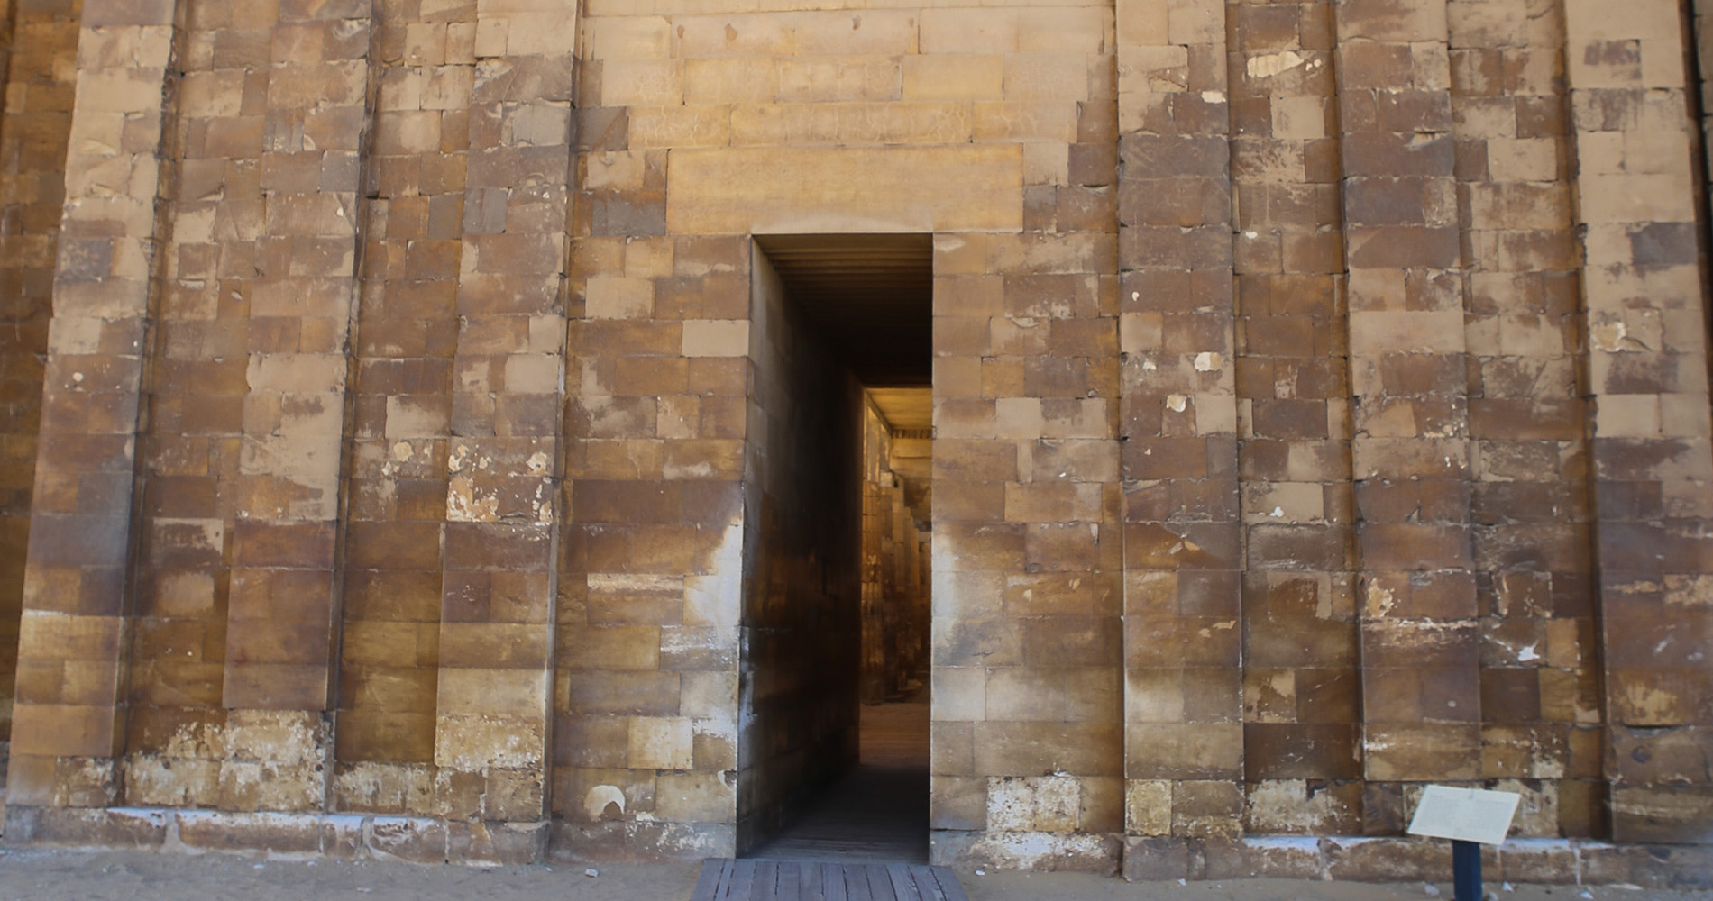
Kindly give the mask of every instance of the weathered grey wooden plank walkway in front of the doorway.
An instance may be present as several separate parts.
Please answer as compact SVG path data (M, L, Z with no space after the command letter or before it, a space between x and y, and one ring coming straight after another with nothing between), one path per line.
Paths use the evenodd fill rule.
M707 860L690 901L970 901L946 867Z

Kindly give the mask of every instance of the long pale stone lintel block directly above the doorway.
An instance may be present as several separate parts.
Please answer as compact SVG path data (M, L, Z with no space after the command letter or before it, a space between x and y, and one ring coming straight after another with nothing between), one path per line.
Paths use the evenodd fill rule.
M685 235L1018 230L1023 151L673 151L666 226Z

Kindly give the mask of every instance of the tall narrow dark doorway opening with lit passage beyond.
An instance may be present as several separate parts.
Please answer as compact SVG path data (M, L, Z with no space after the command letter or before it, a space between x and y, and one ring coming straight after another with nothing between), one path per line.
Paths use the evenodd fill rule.
M738 851L927 862L928 235L757 236Z

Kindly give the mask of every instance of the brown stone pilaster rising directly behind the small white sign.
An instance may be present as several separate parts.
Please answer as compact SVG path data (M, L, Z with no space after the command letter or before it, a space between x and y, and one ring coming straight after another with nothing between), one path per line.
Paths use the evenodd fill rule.
M1446 3L1336 22L1372 817L1386 783L1480 771L1468 380Z

